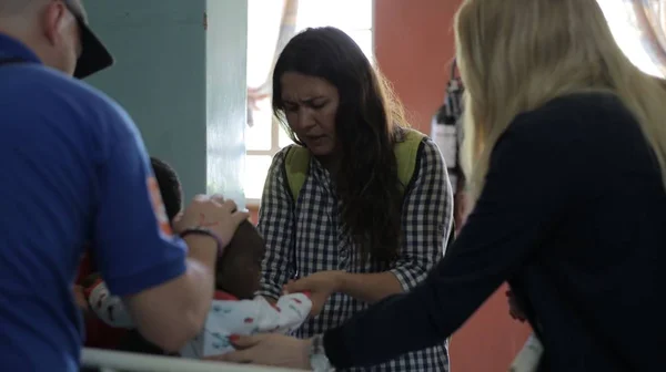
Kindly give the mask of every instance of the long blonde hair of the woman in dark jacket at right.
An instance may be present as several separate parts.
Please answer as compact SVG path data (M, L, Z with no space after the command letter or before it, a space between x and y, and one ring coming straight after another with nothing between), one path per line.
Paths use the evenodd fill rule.
M596 0L465 0L455 31L472 203L513 118L575 92L622 100L654 148L666 186L666 90L625 56Z

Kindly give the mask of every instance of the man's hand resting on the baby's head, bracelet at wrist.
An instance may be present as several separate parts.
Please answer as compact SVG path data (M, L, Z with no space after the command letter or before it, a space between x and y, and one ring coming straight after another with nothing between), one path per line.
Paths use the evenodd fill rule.
M238 210L233 200L224 200L221 196L199 195L185 208L182 217L174 221L174 229L180 232L186 228L208 228L225 247L239 225L249 217L246 211Z

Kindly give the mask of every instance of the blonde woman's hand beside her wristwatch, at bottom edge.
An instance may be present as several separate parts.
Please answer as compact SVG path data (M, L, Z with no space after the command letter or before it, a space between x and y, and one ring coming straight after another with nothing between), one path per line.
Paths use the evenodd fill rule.
M299 370L312 370L310 348L312 341L279 333L232 337L236 351L208 358L231 363L250 363Z

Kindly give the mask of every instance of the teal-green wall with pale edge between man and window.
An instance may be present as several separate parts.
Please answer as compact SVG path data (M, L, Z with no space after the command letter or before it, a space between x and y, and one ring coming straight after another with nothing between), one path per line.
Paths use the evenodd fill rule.
M149 153L178 170L188 198L210 186L242 204L246 0L85 6L117 60L89 83L125 107Z

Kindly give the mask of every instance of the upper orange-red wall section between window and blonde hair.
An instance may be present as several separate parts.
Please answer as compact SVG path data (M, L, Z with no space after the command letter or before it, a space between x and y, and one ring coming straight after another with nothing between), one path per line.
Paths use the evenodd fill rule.
M380 69L411 124L430 133L444 101L454 56L453 14L460 0L375 0L374 43Z

